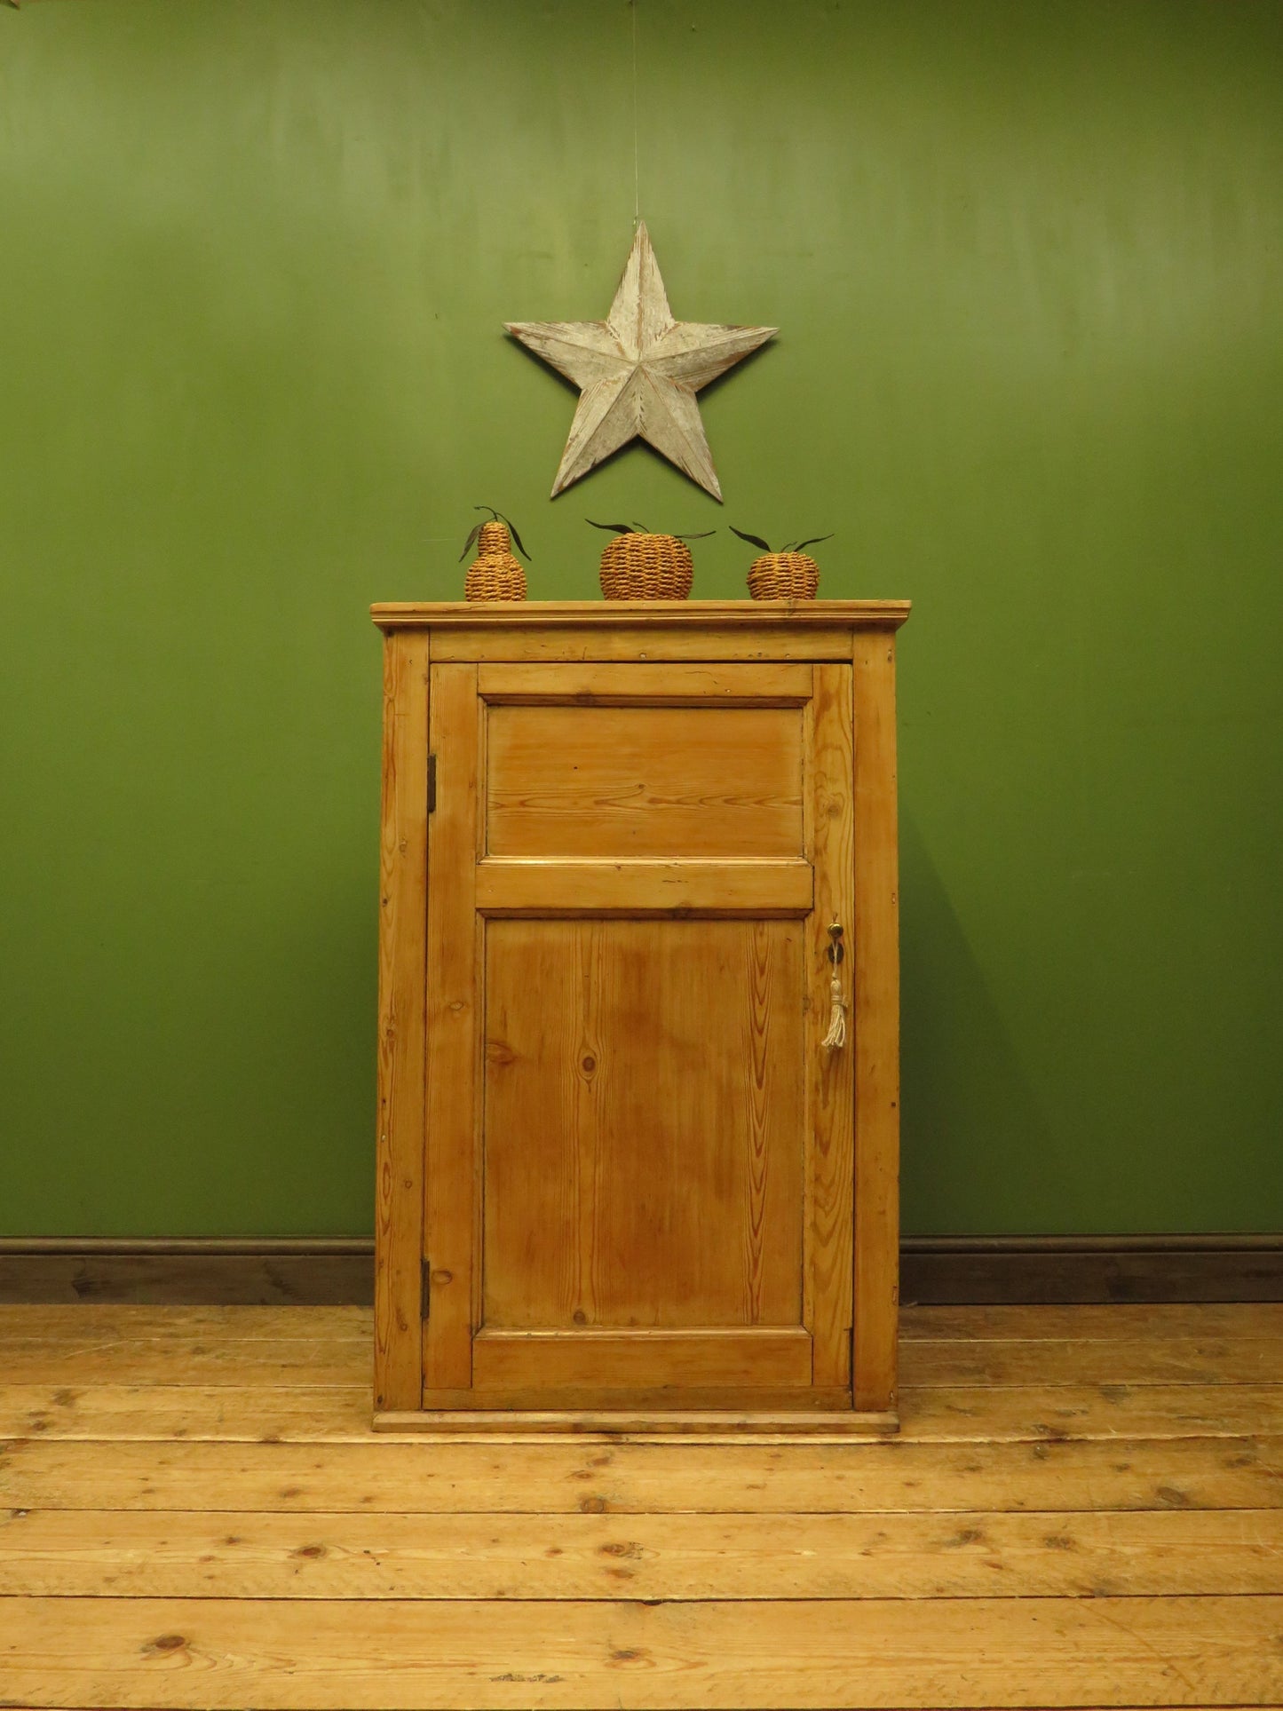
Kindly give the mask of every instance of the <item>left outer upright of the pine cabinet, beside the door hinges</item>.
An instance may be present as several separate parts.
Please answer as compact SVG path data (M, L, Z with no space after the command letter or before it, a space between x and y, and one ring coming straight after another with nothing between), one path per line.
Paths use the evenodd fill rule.
M383 645L378 876L375 1406L421 1389L424 919L428 902L428 631Z

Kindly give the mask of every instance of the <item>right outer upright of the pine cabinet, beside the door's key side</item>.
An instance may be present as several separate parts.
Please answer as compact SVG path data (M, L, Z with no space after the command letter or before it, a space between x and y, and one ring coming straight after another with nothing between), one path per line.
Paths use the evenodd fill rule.
M895 1408L900 1304L900 879L895 638L855 667L855 1408Z

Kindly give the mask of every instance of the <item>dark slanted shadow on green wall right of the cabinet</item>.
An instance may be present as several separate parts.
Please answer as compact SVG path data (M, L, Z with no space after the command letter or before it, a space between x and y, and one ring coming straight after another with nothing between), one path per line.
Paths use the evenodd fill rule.
M1057 1143L922 833L900 818L903 1230L1025 1235L1002 1208L1059 1175ZM984 1076L977 1076L984 1064ZM1054 1182L1044 1186L1054 1198Z

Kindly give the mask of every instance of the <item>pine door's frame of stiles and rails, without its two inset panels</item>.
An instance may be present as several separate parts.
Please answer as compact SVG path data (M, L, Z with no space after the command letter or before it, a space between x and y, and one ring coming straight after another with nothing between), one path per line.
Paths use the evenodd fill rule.
M794 861L729 857L736 885L730 891L727 867L718 861L636 861L624 874L611 857L582 862L494 859L486 849L486 801L489 790L486 741L489 708L503 705L580 707L749 707L795 708L802 765L799 801L801 847ZM763 1343L765 1374L790 1371L790 1384L760 1382L760 1400L778 1406L850 1406L852 1350L852 1172L854 1172L854 1051L825 1051L830 1021L828 926L842 922L850 943L854 931L854 758L852 758L852 669L848 664L611 664L604 667L488 667L472 662L443 662L431 667L431 748L438 756L438 799L431 826L431 862L448 874L448 895L438 881L428 905L428 1165L424 1181L424 1256L431 1268L431 1304L424 1326L424 1406L525 1406L539 1400L534 1382L537 1359L547 1362L546 1405L580 1401L609 1405L611 1391L585 1382L556 1384L551 1377L558 1350L549 1331L541 1350L539 1335L522 1336L482 1326L482 1126L484 1126L484 932L493 915L597 915L602 898L594 897L588 874L597 869L614 888L606 912L643 917L756 917L789 915L802 921L802 982L797 992L801 1018L801 1126L802 1198L801 1217L801 1324L809 1347L802 1381L792 1345ZM792 885L790 869L804 878L804 890ZM505 888L503 879L520 881ZM758 879L758 898L753 885ZM700 895L701 881L707 891ZM532 890L534 888L534 890ZM541 897L542 891L542 897ZM573 900L571 900L573 898ZM850 955L837 970L850 1003ZM458 1145L470 1134L470 1155ZM746 1372L753 1372L749 1345L742 1335ZM588 1340L568 1333L585 1352ZM725 1371L720 1384L683 1384L667 1394L669 1406L686 1398L705 1406L742 1406L754 1394L754 1381L736 1384L737 1360L732 1333L710 1343L725 1348L715 1365ZM698 1336L689 1333L688 1343ZM671 1338L660 1343L676 1369L688 1355ZM766 1345L772 1345L770 1348ZM484 1365L477 1365L484 1353ZM602 1347L609 1367L609 1350ZM647 1362L640 1362L645 1369ZM662 1364L662 1362L660 1362ZM568 1364L573 1367L573 1362ZM506 1376L511 1381L506 1382ZM645 1386L645 1379L642 1381ZM640 1394L640 1393L638 1393ZM664 1403L655 1381L652 1405Z

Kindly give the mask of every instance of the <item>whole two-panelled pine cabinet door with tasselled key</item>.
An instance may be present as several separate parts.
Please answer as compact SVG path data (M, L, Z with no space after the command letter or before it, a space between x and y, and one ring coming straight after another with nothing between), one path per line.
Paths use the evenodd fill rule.
M850 1406L850 667L429 707L424 1405Z

